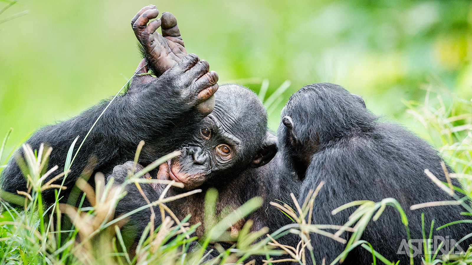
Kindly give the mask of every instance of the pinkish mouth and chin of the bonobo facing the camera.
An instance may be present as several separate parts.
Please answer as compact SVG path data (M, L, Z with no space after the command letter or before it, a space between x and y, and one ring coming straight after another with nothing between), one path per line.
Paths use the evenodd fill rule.
M204 182L205 173L206 172L202 172L201 170L197 170L194 174L187 172L185 165L181 165L179 157L174 157L160 164L157 179L174 180L184 184L185 190L191 190ZM157 190L156 188L158 187L154 189Z

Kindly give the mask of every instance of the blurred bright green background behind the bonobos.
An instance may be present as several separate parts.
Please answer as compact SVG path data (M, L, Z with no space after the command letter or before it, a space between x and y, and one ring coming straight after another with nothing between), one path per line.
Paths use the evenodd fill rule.
M8 4L0 0L0 8ZM170 11L185 47L206 59L219 84L270 95L291 86L338 83L374 113L418 127L402 99L440 84L472 97L472 9L464 0L20 0L0 24L0 136L7 151L39 126L75 116L115 94L140 61L130 20L145 5ZM8 153L8 152L7 152Z

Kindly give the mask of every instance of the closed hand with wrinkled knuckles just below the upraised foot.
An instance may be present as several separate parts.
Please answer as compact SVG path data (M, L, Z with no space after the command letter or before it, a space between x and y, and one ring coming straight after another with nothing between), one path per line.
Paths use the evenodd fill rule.
M195 54L185 56L159 78L140 75L147 73L147 70L146 62L143 59L136 70L137 75L130 84L129 92L131 94L145 96L149 99L155 98L160 101L177 98L179 106L193 108L199 104L208 105L204 101L210 99L218 90L218 74L215 71L209 71L208 62L200 60ZM205 108L204 111L200 107L197 108L205 115L213 110L211 106Z

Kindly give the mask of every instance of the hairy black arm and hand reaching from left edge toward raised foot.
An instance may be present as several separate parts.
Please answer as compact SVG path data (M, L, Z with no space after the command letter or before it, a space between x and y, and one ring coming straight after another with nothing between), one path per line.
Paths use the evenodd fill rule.
M139 69L138 74L147 72L144 60L138 66ZM208 63L200 61L194 54L183 58L160 78L136 76L126 94L117 97L110 104L87 137L71 167L65 186L70 190L88 158L93 155L98 162L95 171L107 173L113 166L133 160L141 140L150 146L142 163L177 149L182 142L179 140L187 132L193 132L193 124L208 115L198 112L195 107L213 95L218 89L217 81L218 75L213 71L209 72ZM78 142L84 139L108 103L109 101L104 101L79 116L46 126L35 132L26 143L33 149L38 149L41 143L52 147L48 168L58 165L56 172L60 173L64 170L72 141L77 135ZM76 144L74 152L78 146ZM23 156L22 149L17 152ZM61 182L62 178L55 183ZM12 193L26 190L25 178L14 159L10 160L2 173L2 189ZM67 194L67 191L62 194ZM43 198L46 202L51 202L54 200L53 195L54 190L46 190Z

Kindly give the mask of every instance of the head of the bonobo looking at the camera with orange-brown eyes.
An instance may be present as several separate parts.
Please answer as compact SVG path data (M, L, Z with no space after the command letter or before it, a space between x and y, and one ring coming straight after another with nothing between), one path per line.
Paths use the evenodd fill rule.
M215 108L201 122L182 154L160 166L169 179L194 189L221 177L225 182L248 167L267 164L277 152L277 143L267 133L266 111L256 94L239 85L219 87ZM164 178L165 178L164 174ZM213 183L214 184L214 183Z

